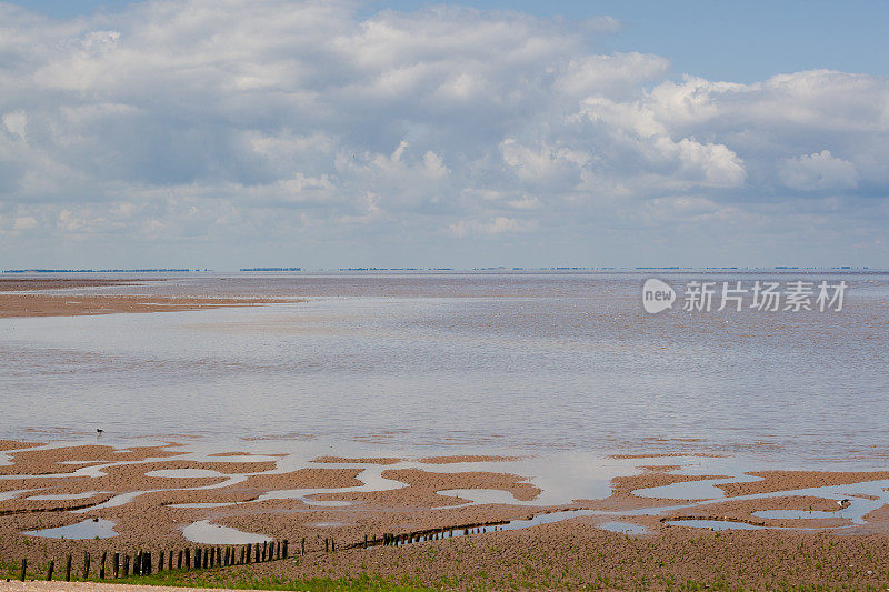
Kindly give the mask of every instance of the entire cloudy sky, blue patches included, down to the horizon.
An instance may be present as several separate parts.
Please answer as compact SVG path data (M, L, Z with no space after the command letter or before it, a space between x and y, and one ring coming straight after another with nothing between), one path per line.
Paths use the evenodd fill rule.
M0 2L0 268L886 267L889 10L626 4Z

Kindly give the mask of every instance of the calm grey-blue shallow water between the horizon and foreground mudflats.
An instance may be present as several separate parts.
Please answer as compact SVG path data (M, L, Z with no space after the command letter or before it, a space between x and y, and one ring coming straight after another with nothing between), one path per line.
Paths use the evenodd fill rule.
M234 274L99 289L309 300L0 320L0 438L98 427L106 438L453 452L652 452L697 440L769 459L889 454L889 275L846 275L841 312L656 317L640 302L648 277ZM690 279L658 277L678 289ZM839 277L810 279L822 278Z

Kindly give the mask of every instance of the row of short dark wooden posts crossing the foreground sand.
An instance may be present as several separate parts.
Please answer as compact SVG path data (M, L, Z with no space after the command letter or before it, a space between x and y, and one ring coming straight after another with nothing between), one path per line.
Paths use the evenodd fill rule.
M430 541L436 539L443 539L444 533L447 532L449 536L453 536L455 531L459 532L460 530L463 531L463 535L468 535L475 532L487 532L486 528L465 528L465 529L451 529L449 531L426 531L426 532L412 532L409 534L393 534L393 533L386 533L380 539L377 535L372 535L369 538L367 534L364 535L364 542L350 544L347 548L369 548L369 546L377 546L377 545L387 545L387 546L397 546L407 543L414 543L420 541ZM496 526L493 530L497 530ZM324 539L324 552L332 553L337 550L337 543L333 539ZM267 561L274 561L280 559L287 559L289 556L289 542L287 539L283 541L271 541L264 542L260 546L259 543L253 545L246 544L246 545L237 545L237 546L210 546L210 548L201 548L197 546L193 549L186 548L182 550L177 551L169 551L164 552L161 551L156 555L158 558L157 563L152 562L151 552L139 551L136 555L132 556L132 575L151 575L154 565L157 565L157 571L162 572L164 568L167 570L201 570L201 569L210 569L210 568L227 568L229 565L247 565L250 563L262 563ZM300 554L306 554L306 538L302 538L300 541ZM192 561L193 559L193 561ZM107 552L102 553L101 560L99 561L99 572L98 576L99 580L107 579L108 575L106 573L106 563L108 563L109 556ZM130 576L130 555L121 555L120 553L113 553L110 558L110 566L111 566L111 578L129 578ZM21 560L21 581L24 581L26 572L28 570L28 560ZM52 580L53 573L56 571L56 562L50 561L49 568L47 569L47 580ZM89 552L83 553L83 580L88 580L90 578L90 554ZM64 561L64 581L71 581L71 555L68 555Z

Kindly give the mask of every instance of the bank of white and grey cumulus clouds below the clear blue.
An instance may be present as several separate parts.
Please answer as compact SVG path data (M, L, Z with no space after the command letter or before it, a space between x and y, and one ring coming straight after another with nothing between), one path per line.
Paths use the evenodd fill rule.
M359 14L147 0L51 20L0 3L3 250L77 238L99 255L128 237L204 243L224 267L244 245L372 252L393 237L417 257L444 237L546 253L682 217L885 228L886 78L679 76L663 57L590 53L620 27L605 16Z

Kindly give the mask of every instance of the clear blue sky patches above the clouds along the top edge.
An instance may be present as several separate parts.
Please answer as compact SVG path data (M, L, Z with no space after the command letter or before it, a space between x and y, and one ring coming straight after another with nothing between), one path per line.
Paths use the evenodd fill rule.
M13 2L54 18L117 12L130 0L31 0ZM411 11L436 2L370 1L363 12ZM453 2L451 2L453 3ZM670 59L677 72L713 80L753 82L799 70L889 73L886 30L889 3L850 0L509 1L459 2L482 10L515 10L585 19L608 14L623 29L600 49L641 51Z

